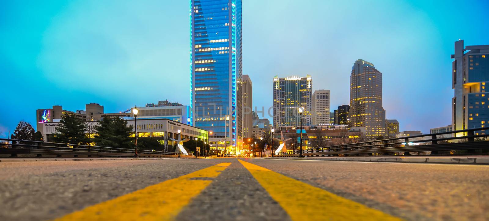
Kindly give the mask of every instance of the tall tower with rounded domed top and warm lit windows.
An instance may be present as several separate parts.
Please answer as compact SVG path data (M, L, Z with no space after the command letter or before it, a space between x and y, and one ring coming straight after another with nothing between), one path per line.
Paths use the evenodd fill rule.
M361 59L356 60L350 75L349 118L353 127L364 127L367 136L386 134L382 73Z

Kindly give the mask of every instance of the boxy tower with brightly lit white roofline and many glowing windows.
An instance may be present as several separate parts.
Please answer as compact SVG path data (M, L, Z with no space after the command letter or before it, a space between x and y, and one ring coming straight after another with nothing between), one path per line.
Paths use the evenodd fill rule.
M312 78L273 78L273 127L299 126L298 109L304 108L302 125L312 123Z

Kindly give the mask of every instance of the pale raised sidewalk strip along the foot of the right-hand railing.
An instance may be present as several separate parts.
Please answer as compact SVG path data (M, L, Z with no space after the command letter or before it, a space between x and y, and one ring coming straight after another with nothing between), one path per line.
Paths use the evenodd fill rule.
M489 156L323 156L323 157L264 157L268 159L398 162L398 163L447 163L489 165Z

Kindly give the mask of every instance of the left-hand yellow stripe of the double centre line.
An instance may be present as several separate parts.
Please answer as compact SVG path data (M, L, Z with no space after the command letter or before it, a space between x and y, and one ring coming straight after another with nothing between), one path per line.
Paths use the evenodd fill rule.
M230 164L220 163L166 180L133 193L89 206L59 218L57 221L174 220L185 205L211 184L212 180L205 178L219 176Z

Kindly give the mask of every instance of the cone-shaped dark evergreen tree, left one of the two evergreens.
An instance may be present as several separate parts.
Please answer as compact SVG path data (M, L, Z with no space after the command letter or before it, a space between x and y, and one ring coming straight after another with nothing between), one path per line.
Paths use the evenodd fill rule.
M61 115L60 125L56 128L53 141L55 143L86 144L86 131L87 124L84 119L66 112Z

